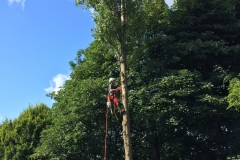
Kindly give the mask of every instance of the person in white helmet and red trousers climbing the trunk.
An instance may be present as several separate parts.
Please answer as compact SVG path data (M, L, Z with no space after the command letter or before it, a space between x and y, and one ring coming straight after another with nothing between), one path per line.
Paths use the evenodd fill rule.
M114 83L115 83L115 78L110 78L109 79L109 86L108 86L108 97L107 97L107 105L108 107L111 107L111 101L118 107L118 110L123 113L125 110L122 109L120 106L119 106L119 103L118 103L118 99L116 98L115 96L115 93L117 91L120 91L121 88L120 87L117 87L117 86L114 86Z

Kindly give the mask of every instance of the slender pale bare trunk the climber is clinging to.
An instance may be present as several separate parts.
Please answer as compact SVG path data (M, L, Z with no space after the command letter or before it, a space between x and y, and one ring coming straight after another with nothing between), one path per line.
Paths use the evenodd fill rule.
M127 75L126 75L126 17L125 17L126 2L121 0L121 33L122 39L120 42L120 68L121 68L121 89L122 89L122 103L125 109L122 121L122 134L125 150L125 160L132 160L132 148L131 148L131 133L130 133L130 118L128 109L128 90L127 90Z

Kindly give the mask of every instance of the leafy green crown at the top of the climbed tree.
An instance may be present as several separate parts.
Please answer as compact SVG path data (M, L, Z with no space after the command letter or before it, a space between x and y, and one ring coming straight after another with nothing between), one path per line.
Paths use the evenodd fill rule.
M124 3L125 11L122 12L121 1L76 0L77 5L94 9L94 37L101 43L108 44L114 54L120 54L121 45L127 48L127 54L131 53L133 47L139 44L146 28L142 2L126 0ZM124 24L121 15L126 19Z

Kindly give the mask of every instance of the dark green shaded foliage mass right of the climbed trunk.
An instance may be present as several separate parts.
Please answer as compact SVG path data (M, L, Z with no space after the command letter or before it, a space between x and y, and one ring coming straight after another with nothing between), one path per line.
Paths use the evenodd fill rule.
M149 19L147 33L155 34L144 37L146 52L130 64L129 99L134 150L141 146L153 152L138 152L135 158L224 159L239 154L239 115L226 111L225 99L229 80L239 70L234 3L182 0L167 14L154 16L167 15L160 23Z

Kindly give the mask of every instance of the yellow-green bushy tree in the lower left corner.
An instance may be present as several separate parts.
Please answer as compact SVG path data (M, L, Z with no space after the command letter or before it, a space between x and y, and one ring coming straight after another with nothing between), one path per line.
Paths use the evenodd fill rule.
M0 159L30 159L40 141L41 131L50 123L45 104L29 106L17 119L0 127Z

